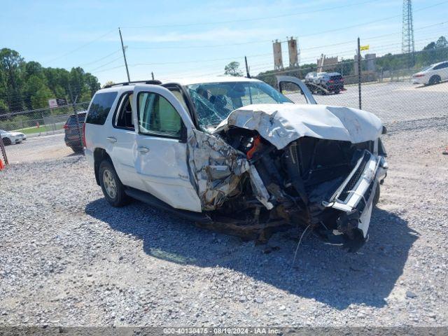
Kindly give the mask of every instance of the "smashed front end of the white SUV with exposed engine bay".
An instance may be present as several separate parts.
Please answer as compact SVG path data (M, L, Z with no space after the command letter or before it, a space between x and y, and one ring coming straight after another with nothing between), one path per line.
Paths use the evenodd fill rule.
M288 109L295 111L297 106ZM219 206L203 204L204 209L214 210L209 226L263 241L276 231L300 225L328 244L349 251L360 248L368 238L372 208L387 171L384 146L376 135L382 125L374 125L373 132L369 123L366 126L362 118L354 118L357 111L346 111L341 120L354 123L356 130L367 136L350 134L347 125L337 127L330 120L332 130L324 127L325 131L319 132L336 139L323 139L309 124L304 131L302 125L291 123L291 111L246 112L234 111L225 126L216 130L216 137L232 148L235 159L232 169L219 179L207 176L208 195L211 190L223 190L223 181L232 179L231 190L216 195ZM323 123L316 124L323 127ZM214 171L215 165L219 168L222 164L220 160L208 162L207 170ZM213 204L217 204L215 198Z

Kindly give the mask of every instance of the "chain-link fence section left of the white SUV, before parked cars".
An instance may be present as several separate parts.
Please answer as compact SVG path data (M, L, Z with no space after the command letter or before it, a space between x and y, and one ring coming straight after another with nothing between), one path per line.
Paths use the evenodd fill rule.
M3 162L18 164L82 153L85 111L89 102L0 115ZM76 114L78 118L76 118ZM78 120L79 125L78 125Z

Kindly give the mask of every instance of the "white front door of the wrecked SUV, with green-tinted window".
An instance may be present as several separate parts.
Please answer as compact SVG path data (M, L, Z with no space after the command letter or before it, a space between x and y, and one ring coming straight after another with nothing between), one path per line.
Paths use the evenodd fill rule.
M141 189L176 209L201 211L190 182L187 134L193 122L178 99L159 85L136 85L134 167Z

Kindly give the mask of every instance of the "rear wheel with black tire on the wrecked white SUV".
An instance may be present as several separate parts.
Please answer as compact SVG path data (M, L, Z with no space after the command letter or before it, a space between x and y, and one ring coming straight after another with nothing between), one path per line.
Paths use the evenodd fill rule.
M123 207L129 202L125 194L125 186L118 178L117 172L109 160L99 164L99 184L103 190L104 198L112 207Z

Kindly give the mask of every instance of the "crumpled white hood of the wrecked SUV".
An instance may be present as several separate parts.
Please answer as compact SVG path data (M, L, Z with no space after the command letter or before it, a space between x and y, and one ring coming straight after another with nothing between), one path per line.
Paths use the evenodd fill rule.
M253 104L232 111L214 133L240 127L256 130L277 149L300 137L350 141L377 139L381 120L372 113L342 106L318 104Z

